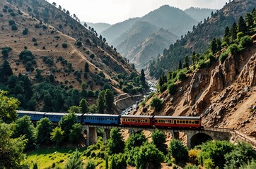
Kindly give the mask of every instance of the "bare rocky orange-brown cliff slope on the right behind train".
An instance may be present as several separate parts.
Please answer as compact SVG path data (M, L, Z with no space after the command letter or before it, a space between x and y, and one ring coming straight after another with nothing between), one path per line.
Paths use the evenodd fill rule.
M256 137L256 42L242 54L221 64L191 73L178 84L178 92L155 94L163 99L162 111L152 115L200 115L205 126L235 128ZM153 98L153 97L152 97ZM142 108L136 114L140 114Z

